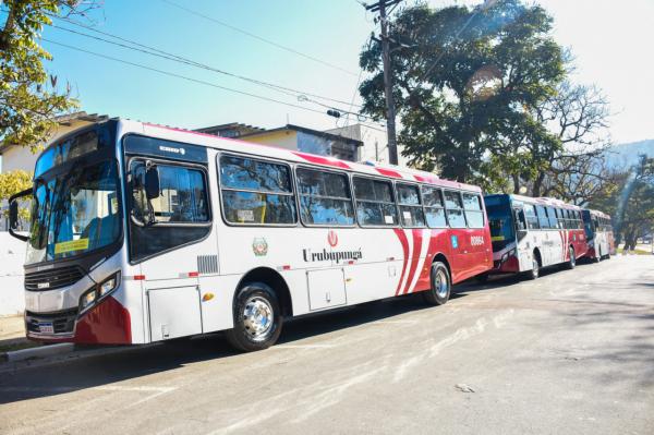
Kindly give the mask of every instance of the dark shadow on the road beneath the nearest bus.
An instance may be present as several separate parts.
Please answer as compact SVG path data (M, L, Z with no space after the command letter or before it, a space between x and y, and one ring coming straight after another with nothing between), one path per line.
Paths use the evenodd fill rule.
M411 294L329 313L306 315L284 324L279 343L292 343L308 337L428 309L438 310L426 305L420 294ZM0 404L102 387L125 379L173 371L186 364L231 358L249 357L234 351L220 334L214 334L23 368L13 374L1 373ZM244 363L247 362L244 360Z

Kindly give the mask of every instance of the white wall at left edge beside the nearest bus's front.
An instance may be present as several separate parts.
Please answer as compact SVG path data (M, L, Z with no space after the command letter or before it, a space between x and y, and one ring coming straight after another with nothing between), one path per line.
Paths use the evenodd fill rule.
M25 242L0 231L0 316L22 314L25 310L24 261Z

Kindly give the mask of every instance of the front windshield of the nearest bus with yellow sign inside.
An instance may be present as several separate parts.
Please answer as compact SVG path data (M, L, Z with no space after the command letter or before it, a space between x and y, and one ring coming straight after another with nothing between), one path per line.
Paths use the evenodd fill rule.
M68 258L120 235L118 169L112 160L37 178L26 264Z

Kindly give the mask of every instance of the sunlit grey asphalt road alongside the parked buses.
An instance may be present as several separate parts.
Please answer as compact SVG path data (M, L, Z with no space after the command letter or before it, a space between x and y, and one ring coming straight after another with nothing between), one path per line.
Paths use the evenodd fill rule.
M0 433L654 433L654 257L458 290L0 375Z

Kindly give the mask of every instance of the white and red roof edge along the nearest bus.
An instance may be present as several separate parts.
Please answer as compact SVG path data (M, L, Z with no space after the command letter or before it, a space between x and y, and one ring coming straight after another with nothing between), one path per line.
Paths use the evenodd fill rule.
M191 130L154 124L148 122L131 121L126 119L120 119L120 122L122 123L121 131L123 134L142 133L147 136L158 137L162 140L186 142L193 145L206 146L210 148L220 148L234 153L245 153L259 157L282 159L298 164L311 164L324 166L326 168L347 170L371 176L384 176L398 180L434 184L443 188L452 188L480 193L482 191L480 186L441 179L434 173L416 169L397 167L392 165L368 165L360 162L358 164L337 159L334 157L284 149L281 147L270 145L255 144L252 142L239 141L235 138L220 137L214 134L195 132Z

